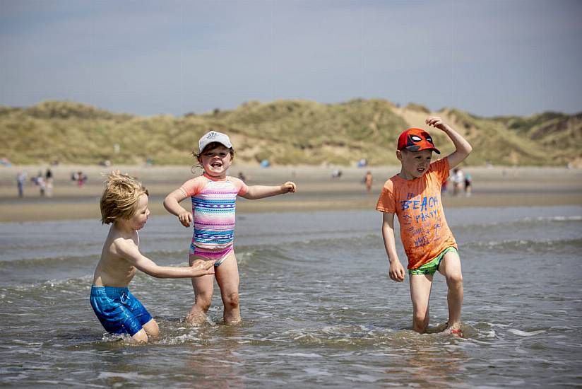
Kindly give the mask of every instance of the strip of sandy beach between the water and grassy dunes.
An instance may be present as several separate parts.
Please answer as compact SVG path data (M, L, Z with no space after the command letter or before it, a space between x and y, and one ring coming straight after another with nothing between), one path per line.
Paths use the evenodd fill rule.
M341 178L331 178L335 168ZM150 192L152 216L165 215L162 207L166 194L194 174L188 166L53 166L52 197L40 197L39 187L30 178L47 166L11 166L0 168L0 222L64 219L99 219L99 197L105 174L112 169L138 177ZM24 197L18 197L16 174L28 173ZM79 187L71 180L73 172L82 170L88 181ZM372 193L367 194L362 178L367 170L374 176ZM230 175L244 172L249 185L276 185L293 180L295 194L261 200L240 199L237 211L317 211L332 209L374 209L384 181L398 173L397 166L345 168L321 166L284 166L260 168L234 165ZM566 168L486 168L468 167L473 176L473 194L452 195L452 187L443 195L445 207L518 207L582 204L582 170ZM196 174L199 174L197 170ZM189 207L189 205L185 205Z

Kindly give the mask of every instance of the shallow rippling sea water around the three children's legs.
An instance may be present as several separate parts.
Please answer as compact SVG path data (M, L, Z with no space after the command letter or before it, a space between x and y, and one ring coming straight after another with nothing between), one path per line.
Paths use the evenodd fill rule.
M107 226L0 223L0 384L44 387L271 388L289 385L505 388L582 385L582 207L455 208L463 264L458 339L437 275L431 332L408 328L408 278L388 279L375 211L239 214L244 323L187 327L189 280L138 273L130 288L162 335L131 345L88 303ZM189 229L154 217L141 249L186 265ZM401 258L404 258L398 245Z

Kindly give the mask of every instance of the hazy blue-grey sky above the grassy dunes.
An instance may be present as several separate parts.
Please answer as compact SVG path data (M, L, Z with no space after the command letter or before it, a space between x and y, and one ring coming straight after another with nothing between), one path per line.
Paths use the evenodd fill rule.
M582 111L582 1L0 0L0 105Z

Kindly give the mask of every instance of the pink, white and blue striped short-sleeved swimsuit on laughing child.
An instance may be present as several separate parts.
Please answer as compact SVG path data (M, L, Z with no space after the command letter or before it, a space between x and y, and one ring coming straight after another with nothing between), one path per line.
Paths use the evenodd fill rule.
M192 199L190 255L217 260L215 266L220 265L233 250L237 195L246 194L247 185L238 178L215 180L205 173L184 182L180 189Z

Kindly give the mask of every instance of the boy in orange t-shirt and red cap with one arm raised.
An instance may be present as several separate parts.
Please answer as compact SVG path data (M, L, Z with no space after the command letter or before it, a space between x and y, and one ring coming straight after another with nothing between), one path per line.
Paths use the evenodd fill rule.
M420 333L427 330L432 278L438 270L446 277L449 289L447 330L462 336L461 260L456 240L444 216L441 185L449 176L449 169L461 163L472 148L468 141L440 117L428 117L426 123L448 135L456 150L431 163L432 152L440 154L440 151L434 146L428 132L411 128L400 134L396 151L396 157L401 164L400 173L386 181L376 209L383 212L382 237L390 262L390 278L403 281L405 271L396 253L394 238L394 214L398 216L400 238L408 257L412 330Z

